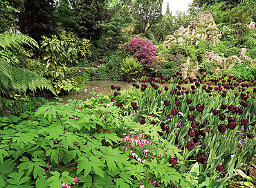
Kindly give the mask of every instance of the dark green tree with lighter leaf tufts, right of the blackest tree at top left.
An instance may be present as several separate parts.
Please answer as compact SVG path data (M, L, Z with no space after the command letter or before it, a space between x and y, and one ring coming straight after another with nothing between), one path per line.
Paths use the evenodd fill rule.
M77 28L75 28L75 32L81 38L99 39L102 35L106 12L105 0L77 1L77 6L75 7Z

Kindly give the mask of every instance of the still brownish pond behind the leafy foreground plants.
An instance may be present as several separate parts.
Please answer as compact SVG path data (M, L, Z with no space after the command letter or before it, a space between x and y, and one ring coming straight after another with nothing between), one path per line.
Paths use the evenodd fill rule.
M90 99L93 97L93 93L91 92L97 92L102 93L102 95L109 95L111 94L111 85L120 86L121 91L123 89L129 88L132 86L132 83L122 82L122 81L113 81L113 80L95 80L90 81L89 83L84 83L81 86L78 86L81 88L80 93L78 93L78 99L82 101L86 101L87 99ZM94 88L94 90L93 90ZM86 91L87 90L87 91ZM62 98L62 102L66 103L69 99L75 100L76 93L73 93L71 95L60 95L60 98ZM55 98L49 98L48 101L50 102L57 102Z

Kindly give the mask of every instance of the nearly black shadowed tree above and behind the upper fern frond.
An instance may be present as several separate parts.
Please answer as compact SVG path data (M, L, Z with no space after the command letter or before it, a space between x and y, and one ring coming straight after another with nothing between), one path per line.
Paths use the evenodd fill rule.
M26 0L24 10L19 17L19 30L36 41L41 36L50 37L57 33L57 24L54 19L55 1Z

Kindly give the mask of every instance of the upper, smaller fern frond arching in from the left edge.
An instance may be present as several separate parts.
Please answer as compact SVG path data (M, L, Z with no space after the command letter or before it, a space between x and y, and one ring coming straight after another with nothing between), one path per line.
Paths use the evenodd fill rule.
M39 48L39 45L37 44L37 41L35 41L33 38L28 37L27 35L15 33L15 32L6 32L0 34L0 46L3 48L6 48L7 46L10 48L15 48L15 46L26 44L30 47L37 47Z

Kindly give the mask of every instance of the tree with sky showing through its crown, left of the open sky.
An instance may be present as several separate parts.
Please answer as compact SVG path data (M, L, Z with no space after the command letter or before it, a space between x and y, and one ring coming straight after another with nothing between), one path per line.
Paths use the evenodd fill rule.
M163 0L134 0L131 14L136 22L136 31L147 32L162 17Z

